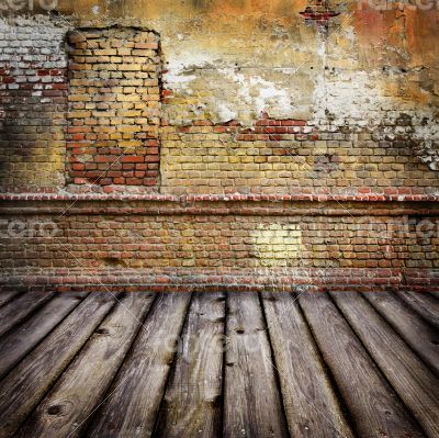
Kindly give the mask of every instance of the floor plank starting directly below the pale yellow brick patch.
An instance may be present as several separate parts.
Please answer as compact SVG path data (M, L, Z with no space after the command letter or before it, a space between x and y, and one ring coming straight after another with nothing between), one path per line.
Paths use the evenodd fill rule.
M352 437L295 295L266 293L263 307L292 437Z

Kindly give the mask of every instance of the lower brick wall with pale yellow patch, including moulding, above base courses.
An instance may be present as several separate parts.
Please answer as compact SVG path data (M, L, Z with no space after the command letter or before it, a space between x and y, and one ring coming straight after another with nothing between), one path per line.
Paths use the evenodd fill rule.
M10 200L0 221L0 258L11 274L44 277L58 269L72 283L72 272L90 281L117 270L170 283L179 276L190 283L196 276L224 274L226 284L249 272L266 282L273 272L302 282L306 269L318 282L351 269L360 279L344 281L363 285L375 270L387 285L410 270L431 279L439 268L436 202L396 199L327 198L319 206L312 198ZM255 281L250 276L248 282Z

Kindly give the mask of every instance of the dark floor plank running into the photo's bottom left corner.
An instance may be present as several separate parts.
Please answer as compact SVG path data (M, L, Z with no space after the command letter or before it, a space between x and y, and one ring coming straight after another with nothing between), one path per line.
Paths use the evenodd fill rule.
M111 294L90 294L0 382L0 437L21 426L113 304Z

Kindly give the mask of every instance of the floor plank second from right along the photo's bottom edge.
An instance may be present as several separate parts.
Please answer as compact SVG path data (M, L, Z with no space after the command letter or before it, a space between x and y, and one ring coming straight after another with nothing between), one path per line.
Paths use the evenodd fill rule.
M424 437L328 295L305 293L299 302L360 437Z

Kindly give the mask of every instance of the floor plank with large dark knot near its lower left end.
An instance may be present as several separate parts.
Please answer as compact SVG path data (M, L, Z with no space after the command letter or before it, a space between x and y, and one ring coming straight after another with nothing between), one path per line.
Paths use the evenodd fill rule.
M97 328L18 437L79 437L116 374L155 295L126 294Z

